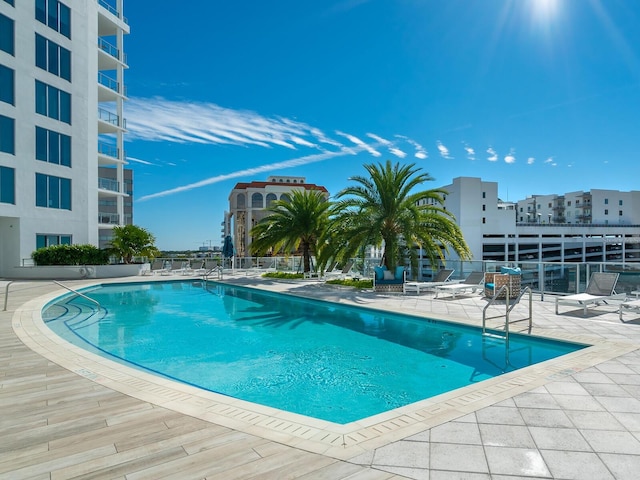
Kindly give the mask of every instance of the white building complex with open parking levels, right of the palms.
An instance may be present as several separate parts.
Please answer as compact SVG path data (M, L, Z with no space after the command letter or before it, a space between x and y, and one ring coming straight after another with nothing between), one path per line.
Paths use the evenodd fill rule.
M640 262L640 191L534 195L509 203L498 198L496 182L479 178L455 178L442 188L475 260Z

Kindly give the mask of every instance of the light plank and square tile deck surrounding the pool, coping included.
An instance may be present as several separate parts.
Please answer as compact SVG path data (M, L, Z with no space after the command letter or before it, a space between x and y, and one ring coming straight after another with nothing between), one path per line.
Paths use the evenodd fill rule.
M479 295L225 281L476 326L486 305ZM555 315L554 297L536 295L533 334L594 346L340 426L163 381L65 345L39 318L60 293L52 282L15 282L0 312L0 479L638 478L640 318L627 313L621 323L615 306L586 318L572 307ZM512 319L526 316L525 307Z

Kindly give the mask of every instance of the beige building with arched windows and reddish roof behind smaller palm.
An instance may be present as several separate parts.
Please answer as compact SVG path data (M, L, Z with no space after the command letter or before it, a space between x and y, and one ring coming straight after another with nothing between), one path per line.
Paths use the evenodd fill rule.
M266 182L240 182L229 194L229 211L225 212L223 237L231 235L238 257L250 257L251 229L268 215L266 208L276 200L286 200L293 190L318 190L327 198L325 187L306 183L304 177L271 176Z

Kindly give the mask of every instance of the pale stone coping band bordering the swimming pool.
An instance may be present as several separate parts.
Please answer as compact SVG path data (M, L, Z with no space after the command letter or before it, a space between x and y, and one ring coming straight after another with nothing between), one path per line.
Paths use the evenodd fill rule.
M133 279L130 281L146 283L150 280ZM167 279L158 281L167 281ZM117 282L123 283L122 279L118 279ZM83 285L83 288L107 283L112 282L105 280L88 282ZM267 289L264 286L254 286L253 288ZM273 289L268 290L273 291ZM637 346L623 342L543 331L543 335L536 336L591 346L531 367L484 380L478 384L340 425L202 390L128 367L72 345L50 330L41 316L43 306L59 297L61 292L66 291L60 289L34 298L18 308L13 315L14 332L27 347L38 354L80 376L131 397L241 432L340 460L347 460L422 432L637 349ZM316 297L309 298L317 299ZM341 299L340 303L362 307L362 305L357 305L348 299ZM393 311L371 305L367 305L366 308ZM410 315L417 317L423 316L424 318L462 325L478 326L463 318L453 318L434 312L428 312L428 314L427 317L417 311L410 313Z

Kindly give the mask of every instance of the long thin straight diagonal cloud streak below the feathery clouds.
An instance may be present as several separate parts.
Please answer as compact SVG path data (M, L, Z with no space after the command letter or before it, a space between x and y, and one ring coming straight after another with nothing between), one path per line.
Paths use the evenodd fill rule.
M357 154L357 150L362 147L356 147L355 149L342 149L337 152L325 152L325 153L317 153L314 155L305 155L304 157L293 158L291 160L285 160L283 162L270 163L268 165L261 165L259 167L247 168L244 170L238 170L236 172L226 173L224 175L217 175L215 177L210 177L204 180L200 180L198 182L190 183L188 185L183 185L180 187L171 188L169 190L163 190L161 192L152 193L149 195L144 195L138 199L139 202L144 202L146 200L151 200L154 198L167 197L169 195L175 195L176 193L184 193L190 190L194 190L196 188L206 187L208 185L213 185L214 183L223 182L225 180L230 180L233 178L241 178L241 177L251 177L258 173L270 172L273 170L281 170L283 168L293 168L298 167L300 165L309 165L311 163L321 162L323 160L328 160L330 158L335 157L343 157L345 155Z

